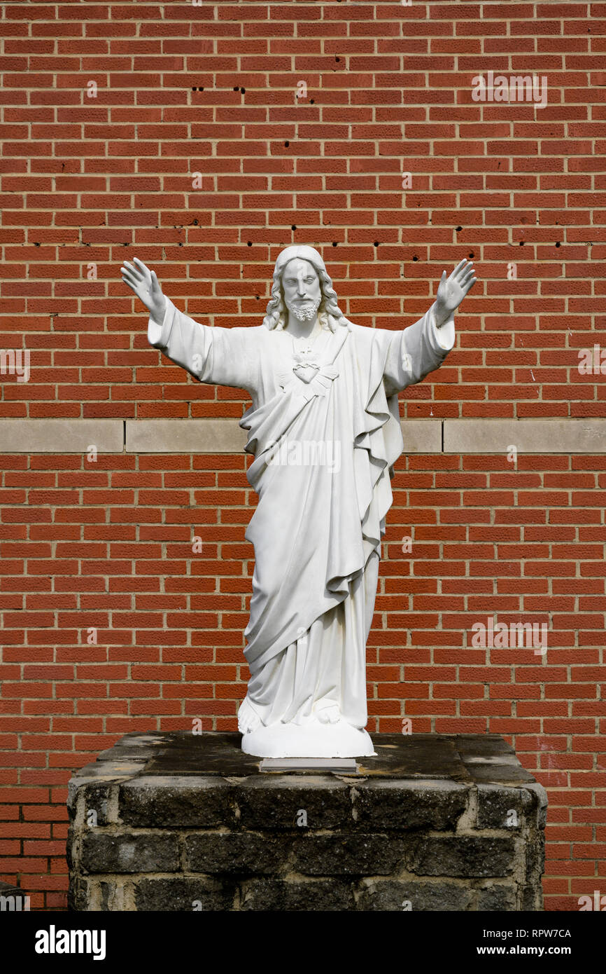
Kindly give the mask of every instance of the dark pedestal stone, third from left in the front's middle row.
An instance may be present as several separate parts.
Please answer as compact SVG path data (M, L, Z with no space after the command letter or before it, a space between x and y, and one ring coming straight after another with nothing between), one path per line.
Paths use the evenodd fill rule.
M381 835L303 836L293 871L303 876L387 876L404 858L405 843Z

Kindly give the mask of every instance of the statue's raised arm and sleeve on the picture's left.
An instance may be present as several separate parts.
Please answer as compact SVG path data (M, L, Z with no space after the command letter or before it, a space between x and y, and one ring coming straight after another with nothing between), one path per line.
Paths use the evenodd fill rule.
M150 345L181 365L198 382L233 386L254 393L258 385L259 356L250 328L211 328L189 318L162 294L154 271L133 258L125 261L122 276L150 313Z

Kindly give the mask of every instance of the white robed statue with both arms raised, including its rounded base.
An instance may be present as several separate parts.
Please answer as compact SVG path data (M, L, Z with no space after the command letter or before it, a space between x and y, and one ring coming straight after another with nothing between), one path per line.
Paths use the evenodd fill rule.
M242 750L268 758L374 754L366 642L374 613L390 476L404 449L398 393L444 361L453 313L476 281L462 260L404 330L352 324L310 246L278 255L263 324L188 318L134 258L123 281L149 309L148 339L200 382L245 389L240 421L259 495L238 711Z

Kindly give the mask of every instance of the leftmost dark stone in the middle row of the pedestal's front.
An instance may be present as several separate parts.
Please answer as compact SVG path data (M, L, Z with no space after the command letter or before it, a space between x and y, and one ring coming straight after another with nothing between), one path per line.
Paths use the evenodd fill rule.
M174 873L178 840L169 832L90 832L82 841L82 867L87 873Z

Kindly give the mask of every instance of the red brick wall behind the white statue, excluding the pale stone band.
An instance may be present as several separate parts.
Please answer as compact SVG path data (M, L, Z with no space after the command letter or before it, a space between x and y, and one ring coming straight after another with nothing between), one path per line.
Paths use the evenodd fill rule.
M403 415L606 415L577 368L606 344L606 4L2 7L0 347L31 376L0 377L1 417L239 417L243 393L160 364L120 265L258 324L296 242L345 314L394 328L473 256L456 347ZM489 70L546 76L548 104L474 101ZM254 495L236 455L0 461L0 877L57 907L74 768L125 731L235 729ZM369 643L371 731L501 732L548 788L548 909L606 894L605 469L404 457ZM549 618L547 656L469 648L493 613Z

